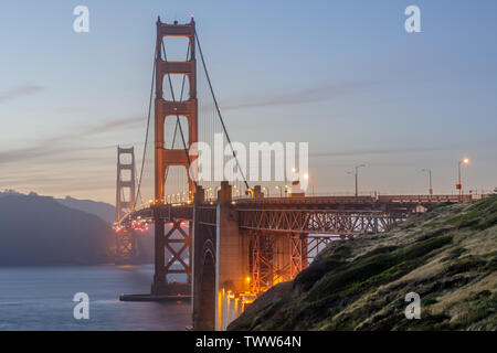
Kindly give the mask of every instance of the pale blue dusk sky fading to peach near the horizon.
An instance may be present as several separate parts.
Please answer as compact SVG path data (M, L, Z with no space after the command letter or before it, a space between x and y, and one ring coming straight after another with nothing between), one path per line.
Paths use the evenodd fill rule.
M231 138L309 142L316 193L353 192L362 163L362 192L426 193L431 169L455 193L463 157L466 190L497 186L496 1L2 0L0 190L114 204L117 145L141 162L157 15L191 14Z

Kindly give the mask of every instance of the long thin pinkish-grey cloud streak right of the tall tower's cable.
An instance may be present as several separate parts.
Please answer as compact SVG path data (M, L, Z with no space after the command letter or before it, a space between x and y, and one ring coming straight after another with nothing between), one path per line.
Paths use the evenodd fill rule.
M298 104L331 100L335 99L336 97L349 94L351 92L371 86L377 86L388 82L389 81L385 79L377 79L377 81L339 83L334 85L320 85L299 92L263 97L255 99L253 101L244 101L234 105L226 105L222 107L222 110L272 107L282 105L298 105Z

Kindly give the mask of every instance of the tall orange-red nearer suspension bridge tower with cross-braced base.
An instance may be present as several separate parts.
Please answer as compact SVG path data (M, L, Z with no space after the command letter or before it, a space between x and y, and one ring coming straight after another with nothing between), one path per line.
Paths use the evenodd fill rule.
M183 36L189 42L189 57L184 62L168 61L162 57L163 39L167 36ZM163 79L168 75L186 75L189 79L189 97L172 101L163 98ZM165 183L167 170L172 165L187 169L189 195L195 193L195 184L189 174L190 159L188 152L192 143L198 141L198 100L197 100L197 61L195 61L195 23L173 24L157 21L156 41L156 97L155 97L155 275L151 292L154 295L169 293L167 276L170 274L184 274L191 284L191 242L192 224L189 229L181 228L181 220L173 220L172 228L165 233L165 221L159 216L159 206L165 203ZM168 85L169 86L169 85ZM169 89L169 87L168 87ZM171 93L172 94L172 93ZM186 117L188 121L188 141L182 149L168 149L165 146L165 122L167 117ZM191 202L191 199L189 200ZM176 236L173 236L176 233ZM179 244L179 245L178 245ZM178 248L179 246L179 248ZM166 250L171 255L166 260ZM188 256L188 261L184 258ZM180 268L172 268L179 264Z

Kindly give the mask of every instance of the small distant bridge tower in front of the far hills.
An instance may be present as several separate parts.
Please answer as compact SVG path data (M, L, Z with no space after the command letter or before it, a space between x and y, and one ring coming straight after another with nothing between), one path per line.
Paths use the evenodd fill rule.
M124 160L128 156L128 161ZM124 158L123 158L124 157ZM116 222L135 208L135 148L117 147ZM127 173L127 175L124 175ZM126 197L127 195L127 197ZM136 232L123 228L116 234L116 264L130 261L138 255Z

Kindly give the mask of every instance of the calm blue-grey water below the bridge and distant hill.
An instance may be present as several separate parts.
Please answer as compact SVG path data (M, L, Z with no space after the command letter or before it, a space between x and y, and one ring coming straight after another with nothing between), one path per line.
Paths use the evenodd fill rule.
M120 302L150 291L151 265L0 267L0 330L184 330L189 302ZM74 293L89 297L89 319L75 320Z

